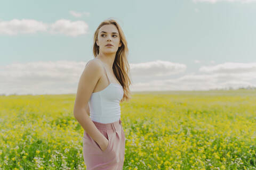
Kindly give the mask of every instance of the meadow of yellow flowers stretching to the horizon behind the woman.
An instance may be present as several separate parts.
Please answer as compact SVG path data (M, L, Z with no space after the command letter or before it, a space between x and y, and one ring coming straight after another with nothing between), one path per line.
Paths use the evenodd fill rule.
M86 169L75 95L0 96L0 169ZM123 169L256 169L256 90L134 92Z

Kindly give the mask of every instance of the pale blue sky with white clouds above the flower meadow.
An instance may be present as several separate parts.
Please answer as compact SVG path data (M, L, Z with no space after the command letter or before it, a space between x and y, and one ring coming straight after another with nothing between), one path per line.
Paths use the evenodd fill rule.
M0 1L0 94L76 94L115 19L133 91L256 87L256 0Z

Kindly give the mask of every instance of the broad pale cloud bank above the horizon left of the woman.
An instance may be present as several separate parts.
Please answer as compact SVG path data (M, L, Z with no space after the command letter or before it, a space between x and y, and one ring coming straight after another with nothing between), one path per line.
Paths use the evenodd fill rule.
M76 93L85 62L29 62L0 66L0 94Z

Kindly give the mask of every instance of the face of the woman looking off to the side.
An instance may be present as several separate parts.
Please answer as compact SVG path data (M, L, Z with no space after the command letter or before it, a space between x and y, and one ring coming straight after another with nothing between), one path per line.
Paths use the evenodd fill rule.
M103 53L116 53L118 47L121 47L119 32L115 25L103 25L99 29L98 40L96 41L99 50ZM113 46L106 46L111 44Z

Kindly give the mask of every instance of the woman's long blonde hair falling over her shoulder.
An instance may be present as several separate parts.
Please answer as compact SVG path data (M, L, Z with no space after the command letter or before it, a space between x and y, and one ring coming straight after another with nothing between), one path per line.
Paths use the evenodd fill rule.
M113 19L105 20L100 23L99 27L97 30L94 32L94 38L93 38L93 55L94 57L97 57L99 54L99 46L96 43L98 34L99 34L99 29L103 25L108 25L108 24L113 24L116 26L119 35L120 35L120 41L122 43L121 47L118 48L115 56L115 61L113 63L113 71L114 74L117 78L117 80L121 83L123 89L124 89L124 96L121 99L120 102L128 101L131 98L131 91L129 89L129 86L131 84L131 79L130 77L130 65L127 61L127 56L129 53L128 47L127 47L127 41L124 36L124 32L121 29L120 25L117 23L117 21Z

